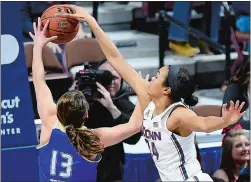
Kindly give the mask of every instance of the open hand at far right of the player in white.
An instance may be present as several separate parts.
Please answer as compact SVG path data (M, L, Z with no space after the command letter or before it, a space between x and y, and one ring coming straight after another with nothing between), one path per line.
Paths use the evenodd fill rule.
M228 123L228 125L232 125L232 124L236 123L243 116L245 111L241 113L241 110L242 110L244 104L245 104L245 102L242 102L240 105L239 100L236 101L234 104L234 102L231 100L229 109L227 109L227 104L223 105L222 118L224 119L224 121L226 123Z

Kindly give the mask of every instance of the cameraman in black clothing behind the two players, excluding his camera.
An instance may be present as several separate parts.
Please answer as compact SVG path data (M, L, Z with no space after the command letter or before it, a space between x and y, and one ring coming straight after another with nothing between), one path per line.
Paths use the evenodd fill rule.
M98 99L93 105L90 105L89 117L85 122L88 128L112 127L127 123L133 112L134 105L128 97L119 97L122 87L121 76L111 67L108 62L102 62L100 70L110 71L114 79L112 83L101 88L100 93L103 98ZM136 144L141 137L141 133L135 134L124 142L127 144ZM122 181L123 165L125 163L125 153L123 142L117 145L105 148L102 159L97 167L97 181Z

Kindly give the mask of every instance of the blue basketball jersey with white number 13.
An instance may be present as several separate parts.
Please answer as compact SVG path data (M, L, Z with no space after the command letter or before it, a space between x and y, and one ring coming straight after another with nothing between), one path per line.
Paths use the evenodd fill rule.
M84 159L65 132L55 128L50 141L39 149L40 181L96 181L99 159Z

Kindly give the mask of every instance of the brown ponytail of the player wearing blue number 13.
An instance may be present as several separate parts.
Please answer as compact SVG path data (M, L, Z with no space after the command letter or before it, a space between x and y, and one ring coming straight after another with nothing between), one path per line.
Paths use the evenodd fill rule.
M72 124L65 128L70 142L80 155L89 159L92 155L100 154L104 151L104 146L100 144L99 137L94 135L91 130L74 128Z

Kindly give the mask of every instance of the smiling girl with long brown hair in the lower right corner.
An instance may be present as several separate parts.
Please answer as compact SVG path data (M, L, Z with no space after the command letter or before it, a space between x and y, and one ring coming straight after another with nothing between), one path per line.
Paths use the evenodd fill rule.
M248 137L240 125L226 131L222 141L220 169L213 178L217 182L250 181L250 148Z

